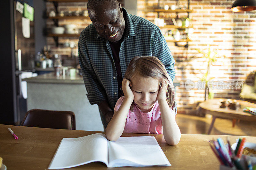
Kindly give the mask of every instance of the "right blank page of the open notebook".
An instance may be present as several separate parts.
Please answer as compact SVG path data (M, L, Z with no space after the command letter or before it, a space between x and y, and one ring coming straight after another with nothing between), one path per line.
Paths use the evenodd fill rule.
M171 166L153 136L120 137L116 142L108 141L108 158L109 163L115 159L124 159L141 165Z

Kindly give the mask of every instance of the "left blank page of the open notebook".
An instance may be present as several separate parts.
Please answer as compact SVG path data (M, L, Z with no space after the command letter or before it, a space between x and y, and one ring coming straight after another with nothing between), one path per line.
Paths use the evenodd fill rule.
M49 169L74 167L93 161L102 161L108 164L107 146L108 140L104 134L63 138Z

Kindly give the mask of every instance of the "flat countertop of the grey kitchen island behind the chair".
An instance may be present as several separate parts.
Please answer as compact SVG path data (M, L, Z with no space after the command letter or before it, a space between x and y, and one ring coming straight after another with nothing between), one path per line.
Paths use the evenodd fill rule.
M56 77L54 76L54 73L47 73L47 74L41 74L36 77L32 78L24 78L22 81L26 81L29 83L61 83L61 84L83 84L84 85L84 80L83 77L76 75L74 78L70 78L70 76L60 76Z

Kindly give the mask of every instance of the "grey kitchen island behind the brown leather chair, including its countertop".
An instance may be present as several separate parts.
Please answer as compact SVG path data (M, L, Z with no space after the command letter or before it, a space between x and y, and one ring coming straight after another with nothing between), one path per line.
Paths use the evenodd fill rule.
M91 105L86 96L84 80L56 77L53 72L33 78L24 78L27 82L28 110L33 108L46 110L67 110L75 113L77 130L103 131L98 105Z

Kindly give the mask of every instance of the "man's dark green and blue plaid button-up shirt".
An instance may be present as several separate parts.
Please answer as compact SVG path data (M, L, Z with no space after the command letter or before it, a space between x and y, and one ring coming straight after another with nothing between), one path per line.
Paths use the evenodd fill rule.
M174 59L158 26L145 18L128 14L125 19L124 41L120 47L122 75L134 56L156 56L165 65L171 79L175 77ZM79 64L82 70L87 98L91 104L107 100L114 110L118 100L116 67L108 40L97 33L93 24L80 34Z

